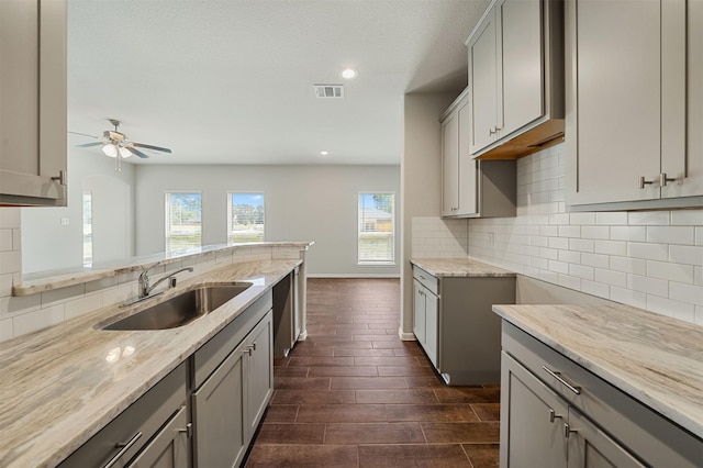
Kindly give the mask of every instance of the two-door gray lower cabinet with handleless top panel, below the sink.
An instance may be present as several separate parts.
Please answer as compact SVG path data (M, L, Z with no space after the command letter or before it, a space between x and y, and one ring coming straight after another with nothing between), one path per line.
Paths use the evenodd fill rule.
M271 307L269 292L193 355L197 468L239 466L254 437L274 392Z

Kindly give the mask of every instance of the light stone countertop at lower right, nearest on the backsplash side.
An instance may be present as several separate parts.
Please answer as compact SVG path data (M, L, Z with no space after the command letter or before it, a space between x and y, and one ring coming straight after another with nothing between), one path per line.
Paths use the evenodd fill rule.
M703 437L703 327L617 303L493 311Z

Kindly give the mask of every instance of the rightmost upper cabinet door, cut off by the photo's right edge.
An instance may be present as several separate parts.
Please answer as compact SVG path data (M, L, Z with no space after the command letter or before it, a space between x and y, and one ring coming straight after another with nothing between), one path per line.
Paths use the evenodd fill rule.
M703 194L703 2L663 1L662 198Z

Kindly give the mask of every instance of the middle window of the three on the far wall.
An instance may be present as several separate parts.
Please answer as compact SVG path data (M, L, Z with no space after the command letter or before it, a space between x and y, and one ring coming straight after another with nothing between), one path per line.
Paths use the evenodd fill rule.
M264 241L264 192L227 192L227 239Z

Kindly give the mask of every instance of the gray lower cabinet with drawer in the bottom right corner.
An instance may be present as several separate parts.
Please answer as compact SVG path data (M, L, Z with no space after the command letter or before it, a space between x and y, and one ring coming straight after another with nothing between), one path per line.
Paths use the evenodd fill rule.
M503 322L500 466L700 467L703 441Z

